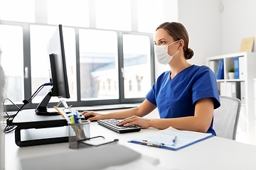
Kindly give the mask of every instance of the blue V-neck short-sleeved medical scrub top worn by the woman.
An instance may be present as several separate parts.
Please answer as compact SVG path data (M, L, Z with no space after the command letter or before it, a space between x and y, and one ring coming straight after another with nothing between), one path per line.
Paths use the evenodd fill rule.
M214 109L220 106L218 86L213 71L206 66L191 65L170 78L171 71L161 74L146 99L157 106L160 118L193 116L196 101L213 98ZM215 134L213 119L208 133Z

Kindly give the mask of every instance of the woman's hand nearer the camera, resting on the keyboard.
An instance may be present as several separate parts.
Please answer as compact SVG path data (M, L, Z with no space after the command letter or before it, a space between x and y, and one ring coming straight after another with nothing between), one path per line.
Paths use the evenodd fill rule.
M150 122L149 119L141 118L137 115L133 115L132 117L129 117L120 121L119 123L117 123L117 125L123 125L123 126L137 125L139 127L149 128L150 127L149 122Z

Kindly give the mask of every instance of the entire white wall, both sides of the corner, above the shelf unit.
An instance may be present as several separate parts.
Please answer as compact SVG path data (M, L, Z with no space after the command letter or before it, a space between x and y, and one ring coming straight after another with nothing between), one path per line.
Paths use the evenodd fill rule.
M178 0L178 22L187 28L195 52L189 62L206 64L206 57L239 52L242 39L256 35L255 16L255 0Z

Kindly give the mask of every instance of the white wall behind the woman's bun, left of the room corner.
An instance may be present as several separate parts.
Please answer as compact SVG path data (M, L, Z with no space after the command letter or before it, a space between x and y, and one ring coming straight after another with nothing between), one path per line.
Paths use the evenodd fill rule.
M220 0L178 0L178 22L188 30L191 64L206 64L206 57L222 53Z

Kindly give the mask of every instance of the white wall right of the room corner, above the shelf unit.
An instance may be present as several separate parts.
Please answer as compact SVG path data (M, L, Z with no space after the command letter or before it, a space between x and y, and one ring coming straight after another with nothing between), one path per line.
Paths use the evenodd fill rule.
M223 6L223 54L239 52L242 39L256 35L256 1L223 0Z

